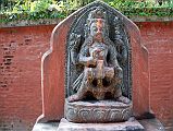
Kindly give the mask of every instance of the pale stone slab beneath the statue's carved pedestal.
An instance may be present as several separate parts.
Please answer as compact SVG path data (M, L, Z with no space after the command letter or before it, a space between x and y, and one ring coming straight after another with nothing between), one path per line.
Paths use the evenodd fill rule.
M116 123L73 123L62 118L57 131L144 131L144 127L137 120Z

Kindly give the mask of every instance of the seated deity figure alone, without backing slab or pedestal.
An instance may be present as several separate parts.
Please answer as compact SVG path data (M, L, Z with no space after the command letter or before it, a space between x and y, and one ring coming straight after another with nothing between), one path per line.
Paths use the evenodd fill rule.
M88 35L77 55L77 63L84 67L83 73L74 81L75 94L69 102L83 99L115 99L129 103L122 95L123 70L118 61L118 50L109 38L107 15L101 9L91 11L87 19ZM77 83L81 80L79 86Z

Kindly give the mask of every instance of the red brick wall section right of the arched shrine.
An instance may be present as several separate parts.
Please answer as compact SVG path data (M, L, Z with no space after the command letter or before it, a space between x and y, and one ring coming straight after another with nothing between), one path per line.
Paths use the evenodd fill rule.
M173 22L139 24L149 52L150 109L168 127L173 127Z

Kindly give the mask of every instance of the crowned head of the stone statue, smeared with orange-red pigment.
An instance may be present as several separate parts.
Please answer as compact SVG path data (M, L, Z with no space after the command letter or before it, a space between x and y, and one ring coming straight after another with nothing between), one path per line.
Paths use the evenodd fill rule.
M102 40L108 35L107 15L102 9L97 8L91 11L87 19L89 35L97 41Z

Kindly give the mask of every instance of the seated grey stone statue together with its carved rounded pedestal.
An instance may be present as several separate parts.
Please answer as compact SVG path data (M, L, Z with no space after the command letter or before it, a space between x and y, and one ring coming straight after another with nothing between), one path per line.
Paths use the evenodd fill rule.
M110 39L107 12L99 7L88 13L84 33L70 32L65 80L69 121L124 121L132 115L132 103L122 93L127 48L118 19L114 40Z

